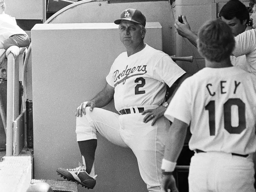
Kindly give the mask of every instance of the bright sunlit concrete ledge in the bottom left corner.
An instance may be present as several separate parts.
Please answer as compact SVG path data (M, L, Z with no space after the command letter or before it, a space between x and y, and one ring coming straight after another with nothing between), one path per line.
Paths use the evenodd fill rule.
M0 162L0 186L3 192L26 192L31 182L31 156L4 156Z

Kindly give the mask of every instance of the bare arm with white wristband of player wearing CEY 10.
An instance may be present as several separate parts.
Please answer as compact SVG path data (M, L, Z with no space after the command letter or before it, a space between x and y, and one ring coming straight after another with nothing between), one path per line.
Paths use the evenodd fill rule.
M166 192L168 189L171 189L172 192L178 192L172 172L175 169L177 159L182 150L187 129L188 124L174 118L172 126L166 136L164 159L161 166L163 170L161 188Z

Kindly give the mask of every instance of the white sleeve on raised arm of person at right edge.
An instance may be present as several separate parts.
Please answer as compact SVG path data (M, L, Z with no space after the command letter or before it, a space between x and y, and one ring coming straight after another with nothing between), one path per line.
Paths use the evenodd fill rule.
M256 30L251 29L235 37L236 46L233 51L235 57L246 55L256 49Z

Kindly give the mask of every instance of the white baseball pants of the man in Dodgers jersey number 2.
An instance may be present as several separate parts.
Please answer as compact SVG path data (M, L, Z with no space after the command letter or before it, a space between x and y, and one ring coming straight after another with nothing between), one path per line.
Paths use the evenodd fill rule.
M158 106L144 107L145 110ZM135 107L135 111L139 112ZM86 115L76 118L77 141L97 139L99 132L110 142L129 147L137 157L141 178L147 184L149 192L159 192L161 185L161 163L164 156L165 135L170 122L163 116L151 126L152 120L143 123L145 115L141 113L118 115L101 108L89 107Z

